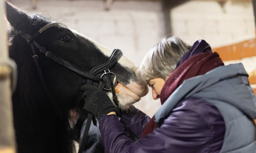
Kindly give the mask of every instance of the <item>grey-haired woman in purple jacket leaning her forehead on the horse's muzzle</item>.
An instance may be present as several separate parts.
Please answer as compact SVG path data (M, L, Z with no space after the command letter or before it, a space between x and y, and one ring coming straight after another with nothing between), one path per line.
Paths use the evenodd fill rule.
M150 120L136 110L119 121L102 90L82 87L106 152L256 152L256 98L241 63L224 66L204 40L189 46L173 36L148 52L138 77L162 103ZM92 106L92 97L102 104ZM125 129L139 139L132 141Z

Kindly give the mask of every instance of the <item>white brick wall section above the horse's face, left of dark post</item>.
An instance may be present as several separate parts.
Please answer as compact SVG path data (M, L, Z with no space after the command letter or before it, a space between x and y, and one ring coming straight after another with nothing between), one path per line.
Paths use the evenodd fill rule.
M116 1L105 11L104 1L38 0L33 11L29 0L13 0L13 4L30 12L46 12L63 18L69 27L110 49L121 49L126 57L139 65L145 53L161 38L163 14L161 3ZM134 56L134 54L138 56Z

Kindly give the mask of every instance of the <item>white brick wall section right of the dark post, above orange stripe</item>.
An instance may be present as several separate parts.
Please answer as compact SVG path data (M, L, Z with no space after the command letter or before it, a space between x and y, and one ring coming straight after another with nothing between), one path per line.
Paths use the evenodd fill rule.
M189 41L206 40L212 48L255 38L252 2L193 0L170 13L173 34Z

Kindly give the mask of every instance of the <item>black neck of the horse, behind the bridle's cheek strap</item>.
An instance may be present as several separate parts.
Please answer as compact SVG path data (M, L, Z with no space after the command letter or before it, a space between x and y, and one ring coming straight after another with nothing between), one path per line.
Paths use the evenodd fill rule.
M26 53L28 50L30 48L18 50L15 44L10 47L10 57L18 67L17 88L13 94L18 151L73 152L68 109L59 110L56 102L45 96L31 53Z

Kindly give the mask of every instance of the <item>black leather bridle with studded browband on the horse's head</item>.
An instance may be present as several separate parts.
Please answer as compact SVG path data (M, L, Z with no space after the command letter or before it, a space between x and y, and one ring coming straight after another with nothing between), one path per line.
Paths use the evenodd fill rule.
M55 61L56 63L60 64L60 65L63 65L65 66L66 68L80 74L81 76L85 76L87 79L87 84L90 84L92 85L93 82L99 82L99 86L98 88L100 89L105 89L105 90L109 90L112 92L112 95L113 95L113 101L116 105L118 105L118 100L117 100L117 96L116 96L116 93L115 93L115 86L117 84L117 77L116 77L116 74L113 73L113 72L110 72L110 68L112 68L118 61L118 59L122 56L122 51L119 50L119 49L114 49L111 53L111 55L109 56L108 60L101 64L101 65L98 65L96 67L94 67L93 69L91 69L91 71L89 72L89 74L83 72L83 71L80 71L78 70L77 68L75 68L73 65L69 64L68 62L66 62L65 60L55 56L54 54L52 54L51 52L47 51L44 47L40 46L36 41L35 41L35 38L37 36L39 36L43 31L45 31L46 29L50 28L50 27L53 27L53 26L62 26L62 27L66 27L66 25L64 25L63 23L58 23L58 22L54 22L54 23L50 23L48 25L45 25L43 26L42 28L40 28L34 35L29 35L27 33L23 33L21 31L19 31L19 35L25 39L27 41L27 44L30 45L31 49L32 49L32 53L33 53L33 59L34 59L34 63L36 65L36 68L37 68L37 71L39 73L39 76L40 76L40 80L41 80L41 84L42 84L42 87L44 89L44 92L46 94L46 96L49 97L49 94L48 94L48 91L46 89L46 85L45 85L45 82L44 82L44 78L43 78L43 74L42 74L42 71L41 71L41 68L40 68L40 65L38 63L38 56L36 54L36 51L35 51L35 47L38 48L40 50L40 52L44 53L45 56L47 56L48 58L52 59L53 61ZM101 77L97 77L96 75L99 74L99 73L102 73L104 72ZM111 74L114 75L114 78L112 79L111 77ZM110 89L106 89L104 88L105 85L106 85L106 82L103 80L103 76L106 75L109 82L110 82ZM94 119L93 119L94 118ZM90 124L92 122L92 119L93 119L93 123L94 125L96 125L96 120L95 120L95 117L92 116L92 114L88 114L88 117L87 117L87 122L86 122L86 127L84 129L84 133L83 133L83 136L82 136L82 139L80 140L80 147L79 147L79 151L78 153L82 152L83 151L83 148L84 148L84 144L86 142L86 139L87 139L87 136L88 136L88 132L89 132L89 128L90 128Z

